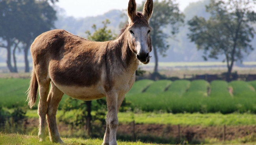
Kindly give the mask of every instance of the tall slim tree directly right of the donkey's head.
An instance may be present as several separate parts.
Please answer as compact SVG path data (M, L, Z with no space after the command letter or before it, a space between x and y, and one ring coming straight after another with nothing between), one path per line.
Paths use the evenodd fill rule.
M138 7L138 11L142 11L143 4ZM169 45L166 38L170 37L169 34L175 35L179 32L179 26L184 22L184 15L179 11L178 4L174 4L172 0L158 0L154 1L154 9L149 24L152 27L150 32L153 53L155 57L154 72L158 72L158 54L166 56L165 52L168 50ZM164 28L171 27L171 32L164 32Z

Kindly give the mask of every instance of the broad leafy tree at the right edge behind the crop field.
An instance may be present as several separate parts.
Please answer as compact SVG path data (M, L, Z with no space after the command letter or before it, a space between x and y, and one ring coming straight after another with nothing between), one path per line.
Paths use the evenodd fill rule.
M255 33L250 22L256 22L253 4L255 0L211 0L206 6L211 14L209 20L195 16L188 21L191 33L187 35L198 50L204 50L205 60L225 56L228 81L234 62L242 61L243 53L249 54L254 49L250 45Z

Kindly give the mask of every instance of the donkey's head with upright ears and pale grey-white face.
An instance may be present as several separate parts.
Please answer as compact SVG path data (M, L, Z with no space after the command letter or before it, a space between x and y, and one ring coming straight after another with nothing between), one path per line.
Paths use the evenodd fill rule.
M127 15L129 18L127 33L129 46L136 54L136 58L144 63L149 63L149 52L152 50L149 18L153 12L153 0L147 0L144 9L141 12L136 12L135 0L129 0Z

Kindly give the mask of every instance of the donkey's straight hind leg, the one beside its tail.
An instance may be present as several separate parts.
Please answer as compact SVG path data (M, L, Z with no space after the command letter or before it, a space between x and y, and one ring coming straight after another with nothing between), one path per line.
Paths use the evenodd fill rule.
M41 79L43 78L43 79ZM39 141L45 141L45 116L47 112L47 96L49 94L50 79L46 77L38 77L39 85L39 103L38 103L38 115L39 115Z

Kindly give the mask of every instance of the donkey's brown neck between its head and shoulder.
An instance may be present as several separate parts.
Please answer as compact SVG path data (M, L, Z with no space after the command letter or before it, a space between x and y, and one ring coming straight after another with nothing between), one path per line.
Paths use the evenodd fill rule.
M111 50L111 55L116 56L115 58L117 58L117 60L113 60L115 63L118 63L127 71L134 72L138 68L139 61L136 59L136 55L131 51L126 35L127 33L123 32L116 40L110 41L108 50Z

